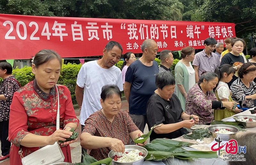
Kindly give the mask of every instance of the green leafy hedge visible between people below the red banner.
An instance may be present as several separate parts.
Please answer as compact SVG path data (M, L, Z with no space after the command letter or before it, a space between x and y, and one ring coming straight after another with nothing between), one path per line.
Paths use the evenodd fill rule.
M155 61L160 65L160 59L156 58ZM124 61L119 61L116 66L121 69ZM171 67L172 73L174 75L174 67L179 62L179 59L175 59L173 61L173 65ZM60 71L60 78L58 80L58 84L65 85L68 87L71 93L71 98L73 104L76 104L76 96L75 96L75 89L76 89L76 79L77 74L81 68L82 64L63 64L62 70ZM21 86L28 84L30 81L35 79L35 75L32 73L32 68L25 66L24 68L15 68L12 71L12 74L15 78L20 82ZM0 80L0 83L2 79Z

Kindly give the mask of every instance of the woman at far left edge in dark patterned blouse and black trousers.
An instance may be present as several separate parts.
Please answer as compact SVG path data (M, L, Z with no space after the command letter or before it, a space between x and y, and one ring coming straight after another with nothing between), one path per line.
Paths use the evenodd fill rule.
M20 88L20 83L12 75L12 65L7 62L0 63L0 77L4 79L0 85L0 161L9 157L11 142L7 140L9 131L9 116L12 96Z

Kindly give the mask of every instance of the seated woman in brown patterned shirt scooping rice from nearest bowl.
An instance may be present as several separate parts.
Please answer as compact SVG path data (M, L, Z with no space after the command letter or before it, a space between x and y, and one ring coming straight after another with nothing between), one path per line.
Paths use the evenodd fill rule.
M133 140L143 135L129 114L120 110L121 96L118 86L103 86L100 94L102 109L84 122L84 131L80 136L81 146L98 161L107 158L111 149L124 153L124 145L130 144L130 138ZM145 144L146 142L138 145Z

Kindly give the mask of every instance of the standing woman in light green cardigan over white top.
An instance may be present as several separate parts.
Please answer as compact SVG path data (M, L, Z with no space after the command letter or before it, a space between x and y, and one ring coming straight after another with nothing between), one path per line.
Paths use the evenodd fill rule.
M176 64L174 71L177 96L182 109L185 110L188 90L196 84L195 70L191 65L191 61L195 58L195 48L185 47L181 49L181 57L182 59Z

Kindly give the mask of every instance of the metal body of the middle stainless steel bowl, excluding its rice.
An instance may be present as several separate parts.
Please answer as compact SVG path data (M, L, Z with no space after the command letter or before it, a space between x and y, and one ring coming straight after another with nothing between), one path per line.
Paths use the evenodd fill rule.
M216 129L229 129L230 131L232 131L232 134L221 134L221 133L214 133L214 131ZM234 139L234 136L236 135L236 133L239 131L238 128L231 126L231 125L225 125L225 124L217 124L217 125L212 125L210 127L208 127L208 131L210 131L212 133L213 138L218 138L218 136L220 136L221 140L230 140L230 139Z

